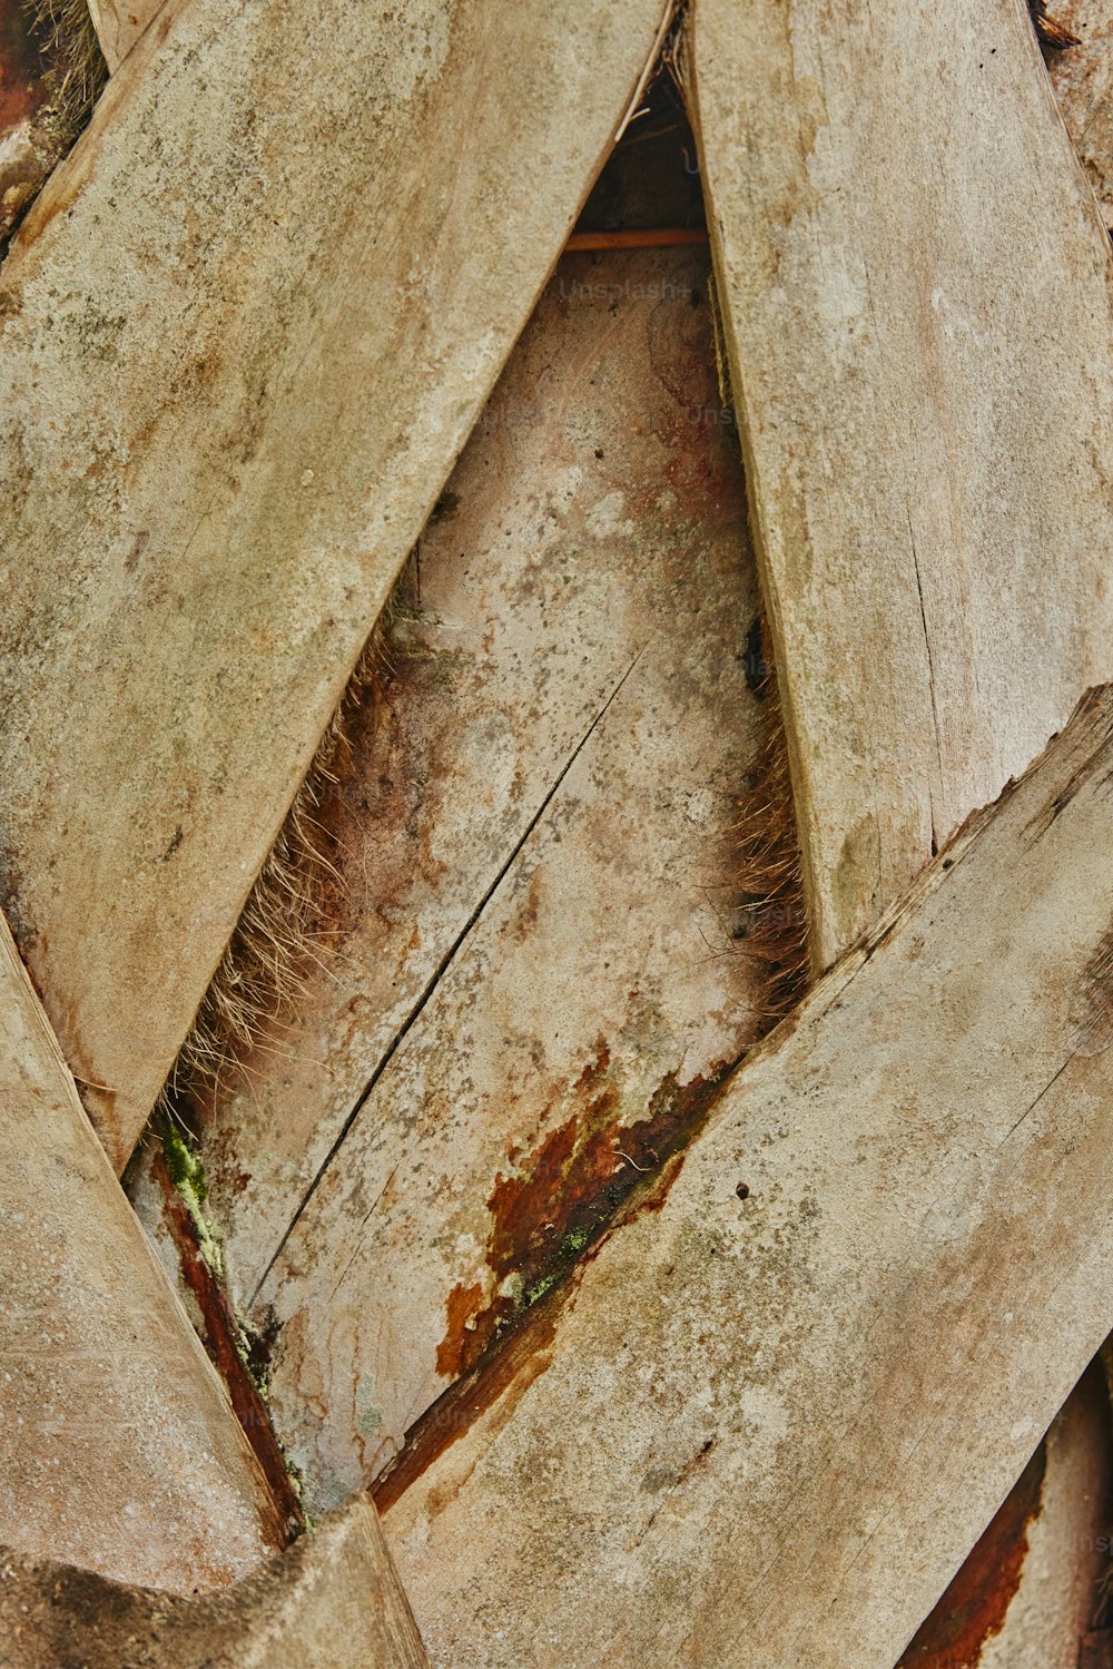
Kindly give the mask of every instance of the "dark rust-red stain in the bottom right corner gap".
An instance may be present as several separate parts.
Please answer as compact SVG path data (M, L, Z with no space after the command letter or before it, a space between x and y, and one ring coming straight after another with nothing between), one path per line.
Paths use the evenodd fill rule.
M946 1594L921 1624L898 1669L976 1669L1000 1634L1020 1587L1028 1525L1040 1512L1046 1444L1040 1444L1008 1500L983 1532Z

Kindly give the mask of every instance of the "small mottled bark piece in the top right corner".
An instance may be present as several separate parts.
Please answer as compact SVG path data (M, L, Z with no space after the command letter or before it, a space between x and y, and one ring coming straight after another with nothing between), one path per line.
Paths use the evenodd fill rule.
M1101 219L1113 227L1113 7L1110 0L1056 0L1051 10L1078 45L1050 52L1048 73Z

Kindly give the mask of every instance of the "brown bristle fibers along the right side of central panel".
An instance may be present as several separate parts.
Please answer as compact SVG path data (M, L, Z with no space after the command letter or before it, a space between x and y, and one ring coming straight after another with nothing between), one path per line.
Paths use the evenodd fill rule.
M808 990L811 956L788 741L764 619L758 633L761 663L754 694L763 703L766 734L746 773L741 801L738 933L746 955L761 970L758 1020L764 1033L791 1013Z

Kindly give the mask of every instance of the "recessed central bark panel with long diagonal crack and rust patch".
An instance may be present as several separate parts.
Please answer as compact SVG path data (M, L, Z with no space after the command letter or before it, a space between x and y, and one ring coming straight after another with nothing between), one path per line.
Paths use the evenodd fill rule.
M244 1308L309 1195L250 1317L280 1329L270 1404L314 1512L756 1035L758 599L706 275L698 250L561 264L422 541L422 621L337 818L342 938L202 1118Z

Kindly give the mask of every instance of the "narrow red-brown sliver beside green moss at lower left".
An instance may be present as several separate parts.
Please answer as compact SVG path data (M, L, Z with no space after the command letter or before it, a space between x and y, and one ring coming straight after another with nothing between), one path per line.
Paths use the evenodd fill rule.
M244 1434L267 1480L274 1502L274 1524L269 1525L270 1539L275 1547L289 1547L294 1537L305 1529L305 1515L294 1489L294 1480L285 1467L279 1440L274 1435L267 1404L235 1349L239 1329L229 1298L202 1257L197 1228L170 1180L170 1172L162 1153L155 1153L152 1172L165 1195L165 1222L174 1233L182 1280L192 1292L200 1310L204 1324L202 1342L227 1387L235 1417L244 1427Z

